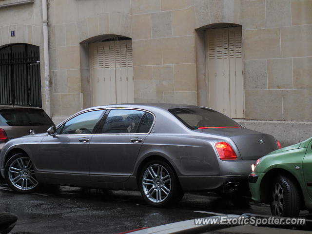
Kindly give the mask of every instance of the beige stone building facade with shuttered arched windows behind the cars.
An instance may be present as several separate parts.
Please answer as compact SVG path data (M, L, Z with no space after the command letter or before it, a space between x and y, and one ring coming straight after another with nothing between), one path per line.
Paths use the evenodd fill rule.
M50 89L41 4L0 0L0 48L39 46L56 123L102 99L172 102L284 145L312 136L312 0L48 0Z

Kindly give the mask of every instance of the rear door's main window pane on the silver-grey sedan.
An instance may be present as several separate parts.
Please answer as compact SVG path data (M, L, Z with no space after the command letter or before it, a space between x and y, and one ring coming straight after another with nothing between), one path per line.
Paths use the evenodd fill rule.
M137 133L144 111L113 109L109 112L101 133Z

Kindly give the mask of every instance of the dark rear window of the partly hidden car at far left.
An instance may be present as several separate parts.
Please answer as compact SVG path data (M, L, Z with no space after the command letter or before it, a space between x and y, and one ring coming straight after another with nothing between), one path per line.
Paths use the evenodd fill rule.
M0 110L0 126L53 126L54 123L41 109Z

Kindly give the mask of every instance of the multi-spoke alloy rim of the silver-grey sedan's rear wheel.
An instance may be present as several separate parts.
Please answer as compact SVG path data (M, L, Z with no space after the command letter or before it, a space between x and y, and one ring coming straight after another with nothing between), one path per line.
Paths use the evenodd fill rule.
M146 197L152 202L164 201L171 190L169 172L159 164L149 166L143 174L142 188Z

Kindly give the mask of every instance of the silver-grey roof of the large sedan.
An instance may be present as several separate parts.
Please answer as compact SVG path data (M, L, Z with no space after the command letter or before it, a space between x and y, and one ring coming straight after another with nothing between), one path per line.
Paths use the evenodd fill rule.
M186 105L186 104L174 104L174 103L124 103L124 104L113 104L113 105L105 105L105 106L95 106L88 108L86 110L92 110L97 108L138 108L138 109L161 109L168 110L174 108L194 108L198 107L195 105Z

